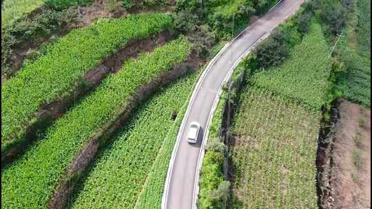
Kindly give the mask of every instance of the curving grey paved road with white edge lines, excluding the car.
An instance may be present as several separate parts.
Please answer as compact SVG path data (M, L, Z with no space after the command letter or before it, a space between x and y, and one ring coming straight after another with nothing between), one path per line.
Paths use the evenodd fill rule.
M249 53L256 43L265 39L273 28L296 12L303 2L303 0L285 0L278 3L264 17L249 25L236 39L226 45L200 76L169 162L163 209L195 208L199 167L204 153L203 140L206 138L210 115L218 100L220 87L225 79L231 76L231 70L242 56ZM187 129L192 121L199 122L202 129L196 144L189 144L186 140Z

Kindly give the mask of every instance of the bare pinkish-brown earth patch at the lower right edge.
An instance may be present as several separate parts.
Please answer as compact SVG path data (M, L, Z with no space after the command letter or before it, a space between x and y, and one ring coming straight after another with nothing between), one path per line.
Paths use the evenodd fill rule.
M340 103L325 208L371 208L371 110Z

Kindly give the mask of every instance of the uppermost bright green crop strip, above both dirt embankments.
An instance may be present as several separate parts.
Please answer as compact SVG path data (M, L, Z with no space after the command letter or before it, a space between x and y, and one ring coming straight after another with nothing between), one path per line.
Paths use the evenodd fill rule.
M50 45L45 55L1 87L1 152L23 140L41 105L74 91L85 73L129 41L161 32L171 23L167 14L105 19Z

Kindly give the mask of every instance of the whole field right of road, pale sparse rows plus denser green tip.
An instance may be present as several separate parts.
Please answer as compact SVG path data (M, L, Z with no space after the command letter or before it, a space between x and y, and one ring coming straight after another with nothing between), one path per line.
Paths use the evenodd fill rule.
M316 157L331 76L320 25L242 91L231 132L232 208L318 208Z

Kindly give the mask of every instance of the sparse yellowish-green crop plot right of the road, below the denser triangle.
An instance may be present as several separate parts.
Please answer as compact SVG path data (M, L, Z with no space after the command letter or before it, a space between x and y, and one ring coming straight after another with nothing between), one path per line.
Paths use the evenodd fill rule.
M234 119L232 208L318 208L320 111L247 87Z

